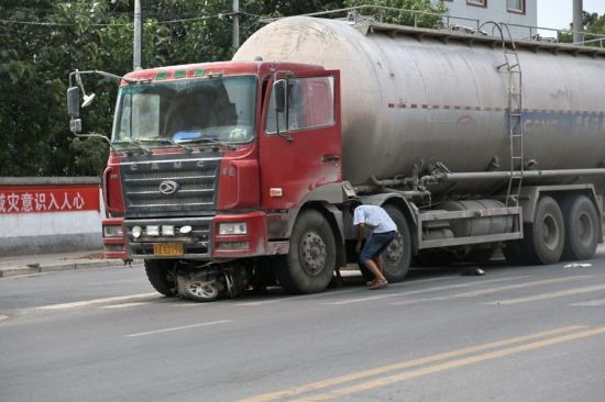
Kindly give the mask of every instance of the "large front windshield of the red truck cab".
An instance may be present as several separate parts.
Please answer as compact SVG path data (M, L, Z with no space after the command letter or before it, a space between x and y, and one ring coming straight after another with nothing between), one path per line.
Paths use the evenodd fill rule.
M248 143L254 137L254 77L219 77L120 89L112 142Z

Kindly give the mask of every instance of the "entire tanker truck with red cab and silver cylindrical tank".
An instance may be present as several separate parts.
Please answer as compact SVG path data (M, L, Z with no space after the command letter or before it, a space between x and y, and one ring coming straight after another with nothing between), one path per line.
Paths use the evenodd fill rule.
M106 256L144 260L165 295L320 292L356 263L358 200L397 224L383 255L391 282L413 259L496 248L515 265L592 258L605 49L514 43L494 26L294 16L230 62L118 77ZM88 72L99 71L73 72L67 93L77 134Z

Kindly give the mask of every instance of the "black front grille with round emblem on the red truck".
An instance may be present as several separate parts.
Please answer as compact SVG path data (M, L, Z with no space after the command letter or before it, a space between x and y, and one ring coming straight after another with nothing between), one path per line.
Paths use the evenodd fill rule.
M162 157L162 160L157 160ZM177 159L178 155L124 163L127 217L193 216L216 211L220 157Z

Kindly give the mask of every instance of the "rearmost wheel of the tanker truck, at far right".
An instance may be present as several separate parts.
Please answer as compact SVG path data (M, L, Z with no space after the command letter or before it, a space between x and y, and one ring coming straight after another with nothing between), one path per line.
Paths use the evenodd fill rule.
M593 258L598 244L598 214L586 196L571 196L561 203L565 221L563 259Z

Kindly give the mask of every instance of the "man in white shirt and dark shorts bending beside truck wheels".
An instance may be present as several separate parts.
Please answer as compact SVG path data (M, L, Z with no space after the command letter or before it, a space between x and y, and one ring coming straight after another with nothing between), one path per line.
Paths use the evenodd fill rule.
M381 206L362 205L359 201L351 206L354 208L353 225L358 226L355 252L361 252L360 263L374 275L374 280L367 282L367 288L372 290L384 289L388 286L388 281L383 275L381 254L397 235L397 225ZM365 235L365 227L369 227L372 234L362 249L361 245Z

